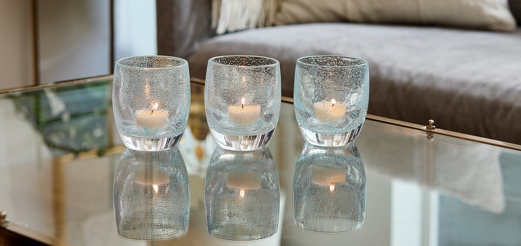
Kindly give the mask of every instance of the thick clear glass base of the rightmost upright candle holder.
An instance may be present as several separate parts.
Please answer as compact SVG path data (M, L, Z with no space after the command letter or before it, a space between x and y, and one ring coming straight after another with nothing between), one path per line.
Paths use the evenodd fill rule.
M358 133L362 130L362 125L355 127L353 130L339 134L320 134L307 130L299 124L300 132L307 143L320 147L342 147L354 143L358 137Z

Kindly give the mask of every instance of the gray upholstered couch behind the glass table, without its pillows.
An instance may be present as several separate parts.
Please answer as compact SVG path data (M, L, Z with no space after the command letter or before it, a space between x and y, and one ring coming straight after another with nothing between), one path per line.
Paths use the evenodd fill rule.
M514 15L520 3L511 0ZM432 119L445 130L521 144L520 28L337 22L215 36L210 12L207 0L157 0L158 53L187 58L192 77L204 79L214 56L272 57L280 61L282 94L291 97L297 58L363 58L370 72L368 113L423 125Z

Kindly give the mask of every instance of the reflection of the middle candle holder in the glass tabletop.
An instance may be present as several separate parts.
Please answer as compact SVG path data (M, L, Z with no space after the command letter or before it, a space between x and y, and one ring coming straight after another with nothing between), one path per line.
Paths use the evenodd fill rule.
M274 235L280 189L269 149L216 148L206 171L204 205L208 233L216 238L248 241Z

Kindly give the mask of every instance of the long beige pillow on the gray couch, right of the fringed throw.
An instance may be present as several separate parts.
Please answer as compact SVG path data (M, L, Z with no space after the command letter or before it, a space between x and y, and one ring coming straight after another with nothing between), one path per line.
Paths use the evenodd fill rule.
M282 0L275 24L307 22L433 24L512 31L507 0Z

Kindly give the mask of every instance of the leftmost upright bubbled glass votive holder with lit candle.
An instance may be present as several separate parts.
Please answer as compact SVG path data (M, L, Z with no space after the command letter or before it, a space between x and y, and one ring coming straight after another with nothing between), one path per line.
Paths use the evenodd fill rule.
M169 56L121 58L114 68L112 99L125 146L140 151L173 148L188 120L188 62Z

